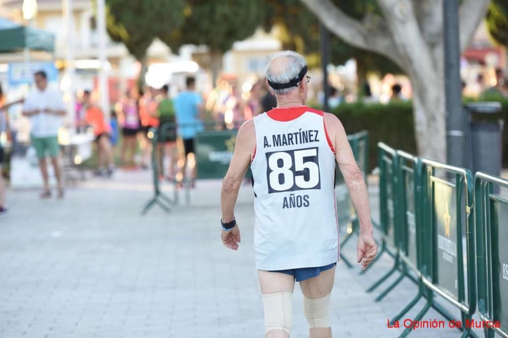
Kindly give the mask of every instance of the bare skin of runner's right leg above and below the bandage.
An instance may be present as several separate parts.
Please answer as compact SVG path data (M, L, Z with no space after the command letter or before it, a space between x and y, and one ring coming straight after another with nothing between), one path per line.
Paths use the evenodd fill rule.
M318 299L332 292L335 267L321 272L319 276L312 277L300 282L300 288L304 296L310 299ZM331 338L330 327L309 328L310 338Z

